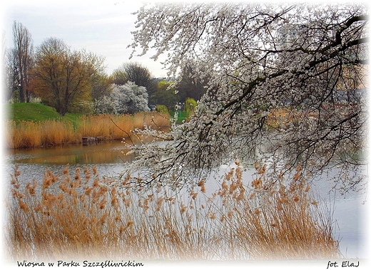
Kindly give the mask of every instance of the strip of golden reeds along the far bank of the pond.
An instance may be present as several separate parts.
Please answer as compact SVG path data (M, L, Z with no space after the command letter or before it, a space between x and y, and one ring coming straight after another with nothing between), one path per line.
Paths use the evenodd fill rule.
M131 130L145 125L163 128L169 125L169 116L161 113L135 115L89 115L78 118L73 125L68 121L6 122L6 147L40 147L79 143L82 137L100 137L102 140L121 140Z

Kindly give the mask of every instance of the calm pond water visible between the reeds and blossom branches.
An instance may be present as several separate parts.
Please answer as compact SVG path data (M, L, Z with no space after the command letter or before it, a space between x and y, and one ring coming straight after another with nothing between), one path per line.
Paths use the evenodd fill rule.
M75 167L96 166L101 176L116 176L123 171L125 162L130 162L131 156L125 155L128 148L120 141L100 142L96 145L65 145L58 147L41 147L34 149L7 150L5 152L6 181L14 165L19 165L22 181L42 180L44 171L49 168L52 172L61 172L66 164L71 171ZM228 166L219 168L223 175L230 170ZM253 168L245 168L244 180L251 180ZM367 230L365 229L368 217L368 202L365 202L365 192L349 192L341 196L339 192L331 190L332 182L326 177L315 181L316 193L333 210L334 237L340 240L342 255L346 258L367 258ZM9 182L9 181L8 181ZM218 184L210 180L210 190L218 189Z

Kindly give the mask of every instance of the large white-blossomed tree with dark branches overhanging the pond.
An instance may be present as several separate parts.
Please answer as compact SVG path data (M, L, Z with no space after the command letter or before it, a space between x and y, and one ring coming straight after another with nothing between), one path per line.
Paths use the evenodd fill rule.
M198 76L212 78L166 147L133 147L133 167L148 168L137 184L183 185L248 159L270 160L273 173L300 164L303 175L331 165L357 174L367 131L366 11L362 4L143 6L133 53L155 48L156 59L169 51L171 73L197 61Z

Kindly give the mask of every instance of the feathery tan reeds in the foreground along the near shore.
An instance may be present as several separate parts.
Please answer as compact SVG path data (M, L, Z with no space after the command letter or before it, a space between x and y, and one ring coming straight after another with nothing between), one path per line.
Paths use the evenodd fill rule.
M16 167L6 211L11 260L39 259L330 259L339 256L331 220L294 176L284 185L257 166L243 185L235 167L220 189L205 181L188 192L133 190L126 179L100 177L96 168L21 185ZM273 180L273 181L272 181Z

